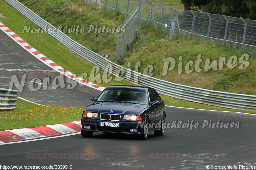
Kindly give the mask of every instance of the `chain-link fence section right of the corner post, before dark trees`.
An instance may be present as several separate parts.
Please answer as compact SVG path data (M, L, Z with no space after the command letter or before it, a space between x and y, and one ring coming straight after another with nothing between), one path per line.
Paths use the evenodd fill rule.
M179 30L256 52L256 21L190 10L178 11Z

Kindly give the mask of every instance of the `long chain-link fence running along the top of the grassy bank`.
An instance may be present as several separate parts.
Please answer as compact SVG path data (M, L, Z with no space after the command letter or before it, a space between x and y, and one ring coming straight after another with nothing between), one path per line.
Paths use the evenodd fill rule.
M144 0L84 0L84 3L97 4L98 8L105 6L107 10L119 10L126 16L132 15L133 9L139 6L142 20L163 29L169 37L177 28L180 33L192 37L221 41L256 52L256 20L175 9Z

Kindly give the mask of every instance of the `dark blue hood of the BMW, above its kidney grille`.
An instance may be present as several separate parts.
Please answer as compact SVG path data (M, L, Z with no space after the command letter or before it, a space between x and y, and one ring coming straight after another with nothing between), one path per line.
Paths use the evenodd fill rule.
M117 102L96 102L86 107L86 112L138 115L147 105ZM110 112L113 111L113 112Z

